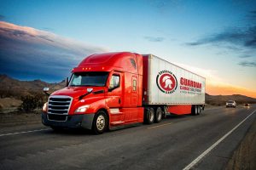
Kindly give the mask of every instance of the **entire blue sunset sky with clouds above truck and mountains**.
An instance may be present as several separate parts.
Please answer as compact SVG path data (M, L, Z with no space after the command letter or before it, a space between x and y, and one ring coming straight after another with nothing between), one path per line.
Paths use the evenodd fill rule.
M88 54L131 51L182 65L207 77L212 85L256 93L256 1L0 3L5 28L0 34L0 71L11 77L59 82ZM6 24L14 25L7 26L11 33ZM24 32L16 36L15 29L27 28L51 43L46 38L32 41Z

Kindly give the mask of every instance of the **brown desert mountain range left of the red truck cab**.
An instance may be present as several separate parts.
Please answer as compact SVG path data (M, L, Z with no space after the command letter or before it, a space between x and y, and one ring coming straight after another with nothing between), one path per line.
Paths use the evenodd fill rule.
M48 83L41 80L20 81L0 74L0 98L20 98L26 94L42 93L45 87L48 87L50 91L55 91L64 88L65 81L59 83Z

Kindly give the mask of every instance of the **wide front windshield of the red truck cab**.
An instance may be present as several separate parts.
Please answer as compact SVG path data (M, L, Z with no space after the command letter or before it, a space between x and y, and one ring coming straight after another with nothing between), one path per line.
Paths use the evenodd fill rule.
M107 79L108 72L75 72L68 86L105 86Z

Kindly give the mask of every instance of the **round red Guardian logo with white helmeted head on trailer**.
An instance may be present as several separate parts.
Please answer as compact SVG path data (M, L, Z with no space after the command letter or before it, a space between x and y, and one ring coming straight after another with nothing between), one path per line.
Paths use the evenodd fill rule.
M171 71L160 71L156 77L156 84L163 93L172 94L177 88L177 78Z

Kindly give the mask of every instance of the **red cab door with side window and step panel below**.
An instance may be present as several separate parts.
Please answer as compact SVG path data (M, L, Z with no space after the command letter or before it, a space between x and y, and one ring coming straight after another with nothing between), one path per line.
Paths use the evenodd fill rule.
M109 107L110 126L119 125L124 122L124 114L120 110L122 99L123 73L113 72L108 79L108 98L106 105Z

